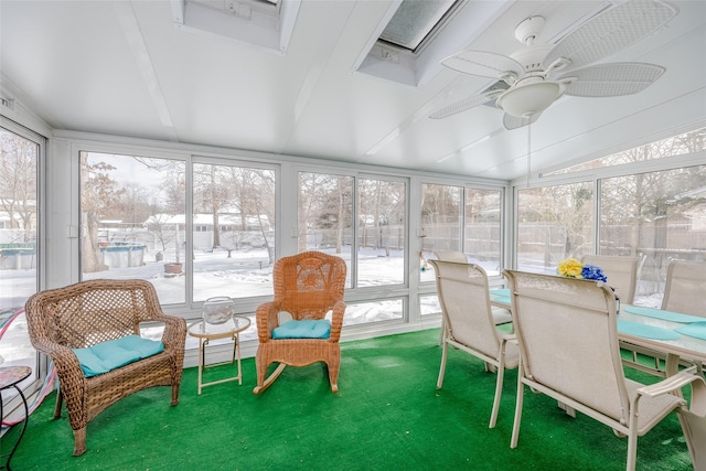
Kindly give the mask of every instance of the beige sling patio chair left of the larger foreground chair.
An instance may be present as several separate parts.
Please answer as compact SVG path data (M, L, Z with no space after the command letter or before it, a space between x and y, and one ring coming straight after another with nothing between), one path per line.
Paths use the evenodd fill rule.
M495 427L500 410L505 368L518 363L513 335L501 333L493 321L488 289L488 275L474 264L429 260L434 265L437 292L443 315L443 349L437 388L443 385L449 345L483 362L485 371L496 371L495 396L490 428Z

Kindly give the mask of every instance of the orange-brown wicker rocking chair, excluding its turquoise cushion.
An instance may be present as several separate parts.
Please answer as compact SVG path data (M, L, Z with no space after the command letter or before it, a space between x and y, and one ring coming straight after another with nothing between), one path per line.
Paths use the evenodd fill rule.
M304 251L282 257L275 263L275 299L260 304L256 310L257 334L257 386L259 394L269 387L281 374L286 365L306 366L324 362L329 368L331 390L338 393L336 384L341 364L339 340L343 327L345 303L345 261L320 251ZM328 338L272 338L272 331L280 327L280 313L291 315L295 324L299 321L323 321L331 311L331 332ZM276 335L277 336L277 335ZM272 374L265 378L267 367L279 363Z

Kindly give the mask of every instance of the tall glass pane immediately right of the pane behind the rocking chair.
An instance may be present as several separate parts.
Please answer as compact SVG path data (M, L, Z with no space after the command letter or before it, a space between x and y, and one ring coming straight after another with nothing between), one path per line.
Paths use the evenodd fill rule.
M359 180L357 286L405 282L404 182Z

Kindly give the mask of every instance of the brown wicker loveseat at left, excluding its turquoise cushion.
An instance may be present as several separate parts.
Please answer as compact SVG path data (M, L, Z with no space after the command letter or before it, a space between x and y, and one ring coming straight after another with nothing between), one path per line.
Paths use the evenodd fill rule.
M117 400L153 386L171 386L179 404L186 324L165 315L154 287L143 280L90 280L38 292L26 304L30 341L56 366L60 394L54 418L66 402L74 456L86 451L86 426ZM164 325L164 350L105 374L86 377L73 349L139 335L141 322ZM158 325L159 325L158 324Z

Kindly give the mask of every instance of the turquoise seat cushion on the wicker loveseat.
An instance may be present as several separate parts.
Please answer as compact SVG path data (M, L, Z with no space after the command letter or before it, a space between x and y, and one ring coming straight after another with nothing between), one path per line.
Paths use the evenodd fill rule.
M139 335L127 335L87 349L74 349L86 377L108 373L163 351L162 342L142 339Z

